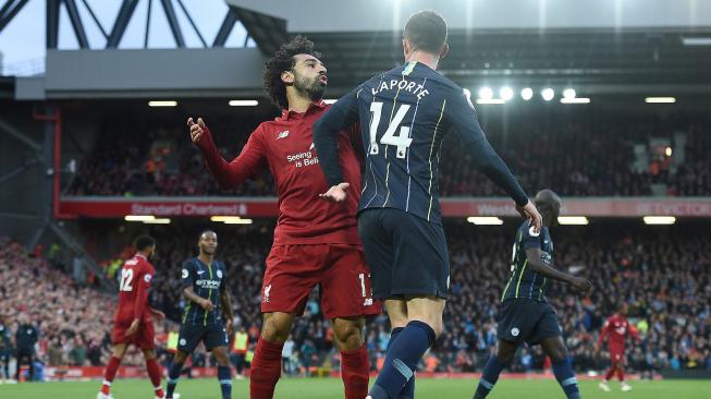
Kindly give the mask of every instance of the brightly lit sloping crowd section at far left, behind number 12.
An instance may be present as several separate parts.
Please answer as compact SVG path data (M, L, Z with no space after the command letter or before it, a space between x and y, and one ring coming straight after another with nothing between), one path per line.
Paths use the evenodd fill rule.
M110 354L109 326L115 300L76 283L59 264L0 239L0 374L14 377L10 359L33 358L45 366L102 365ZM23 332L34 327L34 338ZM162 331L162 325L157 325ZM20 330L20 331L19 331ZM139 364L130 354L127 364ZM28 365L28 363L24 363Z

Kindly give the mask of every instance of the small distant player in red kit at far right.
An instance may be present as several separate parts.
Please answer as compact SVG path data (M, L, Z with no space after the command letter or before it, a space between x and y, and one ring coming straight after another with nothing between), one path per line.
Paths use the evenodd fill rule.
M632 387L625 380L625 338L627 337L627 334L633 336L633 338L638 342L640 341L640 338L637 329L629 324L627 317L625 317L626 315L627 305L622 304L620 309L617 309L617 313L605 321L605 324L602 326L602 330L600 331L598 351L602 348L602 342L605 337L608 337L608 350L610 350L610 361L612 362L608 374L605 374L604 379L602 379L599 385L600 389L605 392L610 391L608 382L614 376L615 372L617 373L617 378L620 378L622 390L632 390Z

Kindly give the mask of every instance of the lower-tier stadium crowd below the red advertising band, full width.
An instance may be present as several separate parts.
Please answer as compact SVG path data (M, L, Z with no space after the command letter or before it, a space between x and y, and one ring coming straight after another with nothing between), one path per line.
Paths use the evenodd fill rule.
M488 228L453 221L445 225L452 264L446 327L422 360L422 371L480 371L493 352L495 315L510 275L515 227L513 222ZM261 322L261 276L272 226L216 230L220 240L218 258L229 270L235 323L248 334L253 350ZM596 352L596 343L604 318L621 302L629 304L628 317L642 336L641 343L630 346L627 352L634 370L711 370L711 238L696 230L605 222L553 231L559 267L580 273L594 287L590 295L580 298L567 287L553 283L548 295L578 372L599 371L608 364L605 351ZM158 254L150 302L176 321L185 306L179 280L181 264L196 255L199 230L177 225L157 227L151 233L158 239ZM17 328L29 324L38 331L34 355L44 364L99 365L107 360L115 305L111 295L72 281L58 266L7 239L0 242L0 354L11 354L0 359L15 355ZM161 332L174 330L175 325L157 323L156 327L159 353L168 362L166 334ZM384 316L368 323L372 367L382 364L388 331ZM289 374L338 368L339 352L333 349L329 322L322 321L317 292L296 323L283 358ZM194 364L207 361L204 352L198 352ZM140 358L128 358L127 363L140 364ZM544 364L539 347L524 348L511 368L525 372Z

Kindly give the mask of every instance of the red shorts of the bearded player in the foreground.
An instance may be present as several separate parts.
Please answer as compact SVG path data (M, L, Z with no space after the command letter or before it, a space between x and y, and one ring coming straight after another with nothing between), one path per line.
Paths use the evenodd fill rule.
M316 286L326 318L381 313L380 302L372 299L363 247L348 244L272 246L261 286L261 312L301 316Z

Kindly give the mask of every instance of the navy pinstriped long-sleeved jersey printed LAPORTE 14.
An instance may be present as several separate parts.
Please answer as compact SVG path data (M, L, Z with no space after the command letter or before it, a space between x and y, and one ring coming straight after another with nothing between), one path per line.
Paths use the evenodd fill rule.
M491 148L462 87L422 63L408 62L370 78L315 124L319 162L331 185L343 180L329 134L358 120L367 157L359 210L399 208L440 225L439 160L446 156L440 149L451 131L517 204L528 201Z

